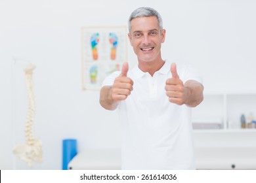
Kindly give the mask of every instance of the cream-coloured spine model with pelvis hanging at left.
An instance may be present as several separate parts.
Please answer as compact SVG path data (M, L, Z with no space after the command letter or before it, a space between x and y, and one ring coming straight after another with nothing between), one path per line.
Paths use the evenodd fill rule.
M28 116L25 127L26 143L17 145L13 150L14 154L16 154L20 159L26 161L29 167L32 167L32 161L41 163L43 157L42 143L39 139L35 139L33 137L33 121L35 115L35 99L32 82L33 69L35 69L35 65L32 63L29 63L24 69L29 99Z

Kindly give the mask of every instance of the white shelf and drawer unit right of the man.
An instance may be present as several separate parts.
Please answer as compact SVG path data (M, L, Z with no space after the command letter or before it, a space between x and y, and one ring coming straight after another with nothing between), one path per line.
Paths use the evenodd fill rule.
M192 122L221 123L194 129L197 169L256 169L256 128L242 129L240 116L256 117L256 92L207 93L192 110Z

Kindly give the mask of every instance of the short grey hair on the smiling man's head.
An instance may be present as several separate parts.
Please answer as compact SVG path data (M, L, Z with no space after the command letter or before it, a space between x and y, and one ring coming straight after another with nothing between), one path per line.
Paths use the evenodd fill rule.
M131 31L131 20L133 20L134 18L145 17L145 16L146 17L156 16L156 18L158 18L158 25L160 27L160 30L161 31L163 30L163 20L161 20L161 15L153 8L140 7L134 10L131 13L131 16L129 17L129 22L128 22L129 32Z

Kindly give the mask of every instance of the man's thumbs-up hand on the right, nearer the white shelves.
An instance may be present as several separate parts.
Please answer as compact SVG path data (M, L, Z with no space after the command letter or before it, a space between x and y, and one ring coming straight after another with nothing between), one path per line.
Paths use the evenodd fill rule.
M186 103L187 90L184 87L182 80L179 78L176 63L171 64L171 75L172 77L166 80L166 95L169 97L171 103L182 105Z

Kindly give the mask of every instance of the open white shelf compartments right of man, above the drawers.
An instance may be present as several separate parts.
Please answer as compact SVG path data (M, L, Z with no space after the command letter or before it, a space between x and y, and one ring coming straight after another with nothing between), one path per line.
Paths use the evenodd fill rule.
M203 102L192 109L192 122L219 122L221 129L242 129L242 114L256 117L256 92L206 93Z

